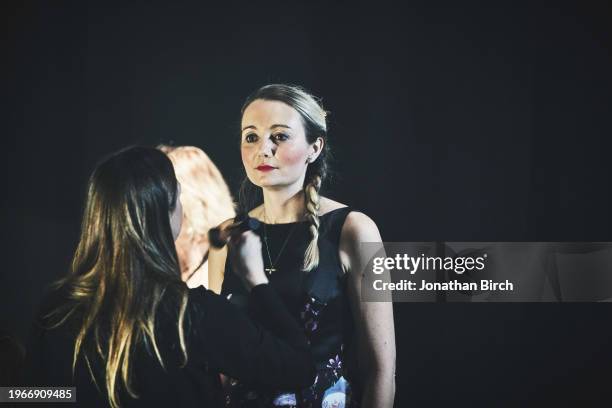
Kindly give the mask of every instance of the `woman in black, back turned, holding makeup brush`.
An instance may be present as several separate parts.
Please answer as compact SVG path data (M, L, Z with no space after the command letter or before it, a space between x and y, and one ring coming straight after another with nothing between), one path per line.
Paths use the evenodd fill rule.
M284 340L182 282L179 194L172 163L153 148L129 148L96 167L71 273L35 324L29 384L76 386L84 407L208 407L223 405L219 372L261 386L312 383L306 339L267 284L253 232L230 243L230 257Z

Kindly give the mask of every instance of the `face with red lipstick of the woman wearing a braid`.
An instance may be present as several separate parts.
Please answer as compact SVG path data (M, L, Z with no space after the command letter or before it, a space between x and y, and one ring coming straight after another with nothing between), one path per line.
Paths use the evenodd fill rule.
M242 115L240 152L249 180L262 188L302 187L308 162L323 145L308 144L300 114L279 101L257 99Z

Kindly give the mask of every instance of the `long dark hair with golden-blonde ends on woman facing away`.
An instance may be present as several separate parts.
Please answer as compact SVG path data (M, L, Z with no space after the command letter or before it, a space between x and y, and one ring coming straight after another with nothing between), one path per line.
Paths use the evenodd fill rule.
M105 364L111 407L119 406L120 386L137 397L130 381L134 347L153 350L164 366L155 336L162 296L178 300L177 330L187 361L183 332L187 287L180 279L169 220L177 199L172 163L154 148L131 147L115 153L99 163L89 179L71 271L58 285L66 290L69 302L50 317L55 316L56 327L72 314L79 316L73 371L82 354L96 382L90 360L97 353Z

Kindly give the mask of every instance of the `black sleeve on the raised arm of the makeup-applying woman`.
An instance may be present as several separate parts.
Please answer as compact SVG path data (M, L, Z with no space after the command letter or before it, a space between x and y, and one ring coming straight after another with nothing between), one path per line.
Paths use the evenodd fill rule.
M275 333L251 321L225 298L206 291L200 320L205 358L211 368L244 382L278 388L305 388L315 367L302 329L268 285L251 291L251 301L269 310Z

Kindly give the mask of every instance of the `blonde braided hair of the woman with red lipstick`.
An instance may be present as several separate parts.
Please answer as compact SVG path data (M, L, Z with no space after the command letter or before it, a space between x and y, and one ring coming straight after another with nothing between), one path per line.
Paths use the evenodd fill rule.
M311 162L306 169L304 178L304 195L306 203L306 216L310 223L311 241L304 254L304 270L310 271L319 264L319 192L329 171L331 156L327 140L327 112L323 109L318 98L314 97L299 86L285 84L271 84L259 88L249 95L242 105L241 114L254 101L279 101L295 109L302 119L306 133L306 141L314 143L322 138L323 149L317 159ZM248 212L261 202L261 189L257 188L247 177L242 181L239 193L239 206L242 212Z

